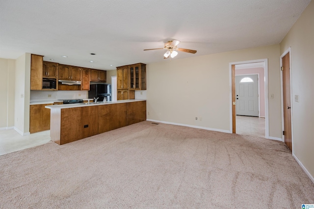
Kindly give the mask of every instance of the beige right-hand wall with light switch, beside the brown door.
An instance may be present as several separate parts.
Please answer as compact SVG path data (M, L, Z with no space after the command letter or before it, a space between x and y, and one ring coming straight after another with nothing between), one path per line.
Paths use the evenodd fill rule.
M314 1L310 2L280 44L291 47L293 154L314 176ZM294 101L299 95L299 103Z

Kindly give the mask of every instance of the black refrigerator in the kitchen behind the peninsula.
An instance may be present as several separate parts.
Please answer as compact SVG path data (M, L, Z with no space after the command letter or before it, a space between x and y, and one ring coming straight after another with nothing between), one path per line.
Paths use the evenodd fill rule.
M98 102L104 101L104 98L107 101L111 101L111 84L90 84L88 98L93 99L97 97L99 97Z

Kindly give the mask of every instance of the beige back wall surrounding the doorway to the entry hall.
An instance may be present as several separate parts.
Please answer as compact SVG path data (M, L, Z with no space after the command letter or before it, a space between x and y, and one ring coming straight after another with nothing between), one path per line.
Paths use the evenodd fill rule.
M148 64L147 118L229 132L229 63L267 58L269 136L281 138L279 56L273 45Z

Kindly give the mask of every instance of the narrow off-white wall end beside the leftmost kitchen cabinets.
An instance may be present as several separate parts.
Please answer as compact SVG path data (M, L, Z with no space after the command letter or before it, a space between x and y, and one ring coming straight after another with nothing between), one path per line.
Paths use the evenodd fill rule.
M30 53L15 60L14 129L22 135L29 133Z

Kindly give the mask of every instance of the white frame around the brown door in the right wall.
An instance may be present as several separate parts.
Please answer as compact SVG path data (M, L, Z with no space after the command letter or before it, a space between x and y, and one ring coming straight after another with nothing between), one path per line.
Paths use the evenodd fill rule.
M289 68L290 68L290 104L291 104L291 143L292 143L292 153L293 153L293 100L292 100L292 67L291 67L291 47L288 48L280 56L280 68L283 66L283 57L289 53ZM284 86L283 86L283 71L280 70L280 90L281 90L281 132L285 130L284 121ZM282 135L282 141L285 142L285 135Z

